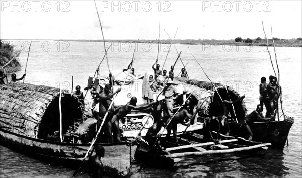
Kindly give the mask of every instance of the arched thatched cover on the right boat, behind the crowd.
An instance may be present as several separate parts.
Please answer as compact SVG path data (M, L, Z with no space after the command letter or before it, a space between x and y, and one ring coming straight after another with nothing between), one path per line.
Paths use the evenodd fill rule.
M212 83L180 77L175 77L173 82L178 84L181 83L185 88L189 88L190 91L195 91L199 97L198 106L201 107L200 114L202 117L219 116L222 114L222 102ZM225 88L225 86L219 83L214 84L222 100L230 101L231 99L232 101L235 101L240 98L240 94L233 88L229 86L226 86ZM228 90L228 92L226 92L226 90ZM234 104L233 106L235 109L236 118L243 119L247 115L247 109L244 101ZM232 118L234 118L235 115L231 105L229 106L229 112Z

